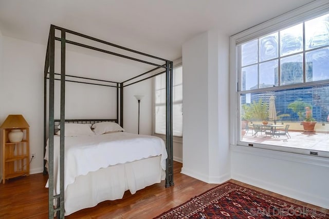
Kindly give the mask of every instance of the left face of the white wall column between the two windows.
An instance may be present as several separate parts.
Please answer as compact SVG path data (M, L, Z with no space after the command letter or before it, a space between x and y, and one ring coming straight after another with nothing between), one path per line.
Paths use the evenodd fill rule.
M182 46L184 142L181 172L203 180L209 173L207 45L204 33Z

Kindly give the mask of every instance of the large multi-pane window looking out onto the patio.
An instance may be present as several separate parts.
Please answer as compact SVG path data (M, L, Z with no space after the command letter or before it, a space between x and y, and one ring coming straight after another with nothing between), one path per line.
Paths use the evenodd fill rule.
M235 63L238 144L329 154L329 13L236 45Z

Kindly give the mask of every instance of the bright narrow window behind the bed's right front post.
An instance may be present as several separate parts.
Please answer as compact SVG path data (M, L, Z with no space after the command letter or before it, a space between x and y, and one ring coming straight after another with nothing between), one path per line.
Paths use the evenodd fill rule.
M173 72L173 135L182 136L182 66ZM155 133L166 134L166 74L155 77Z

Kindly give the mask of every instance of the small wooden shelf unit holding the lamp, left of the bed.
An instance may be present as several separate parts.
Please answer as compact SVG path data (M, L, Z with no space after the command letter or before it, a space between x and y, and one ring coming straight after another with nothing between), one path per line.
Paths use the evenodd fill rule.
M9 178L29 175L29 128L19 128L23 131L22 142L11 143L8 133L12 129L2 129L2 168L3 184Z

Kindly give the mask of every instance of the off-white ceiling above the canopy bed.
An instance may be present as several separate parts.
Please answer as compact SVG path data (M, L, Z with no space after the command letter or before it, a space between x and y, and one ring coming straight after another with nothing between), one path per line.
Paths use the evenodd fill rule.
M0 0L3 35L46 45L50 24L174 60L198 33L233 35L313 0Z

